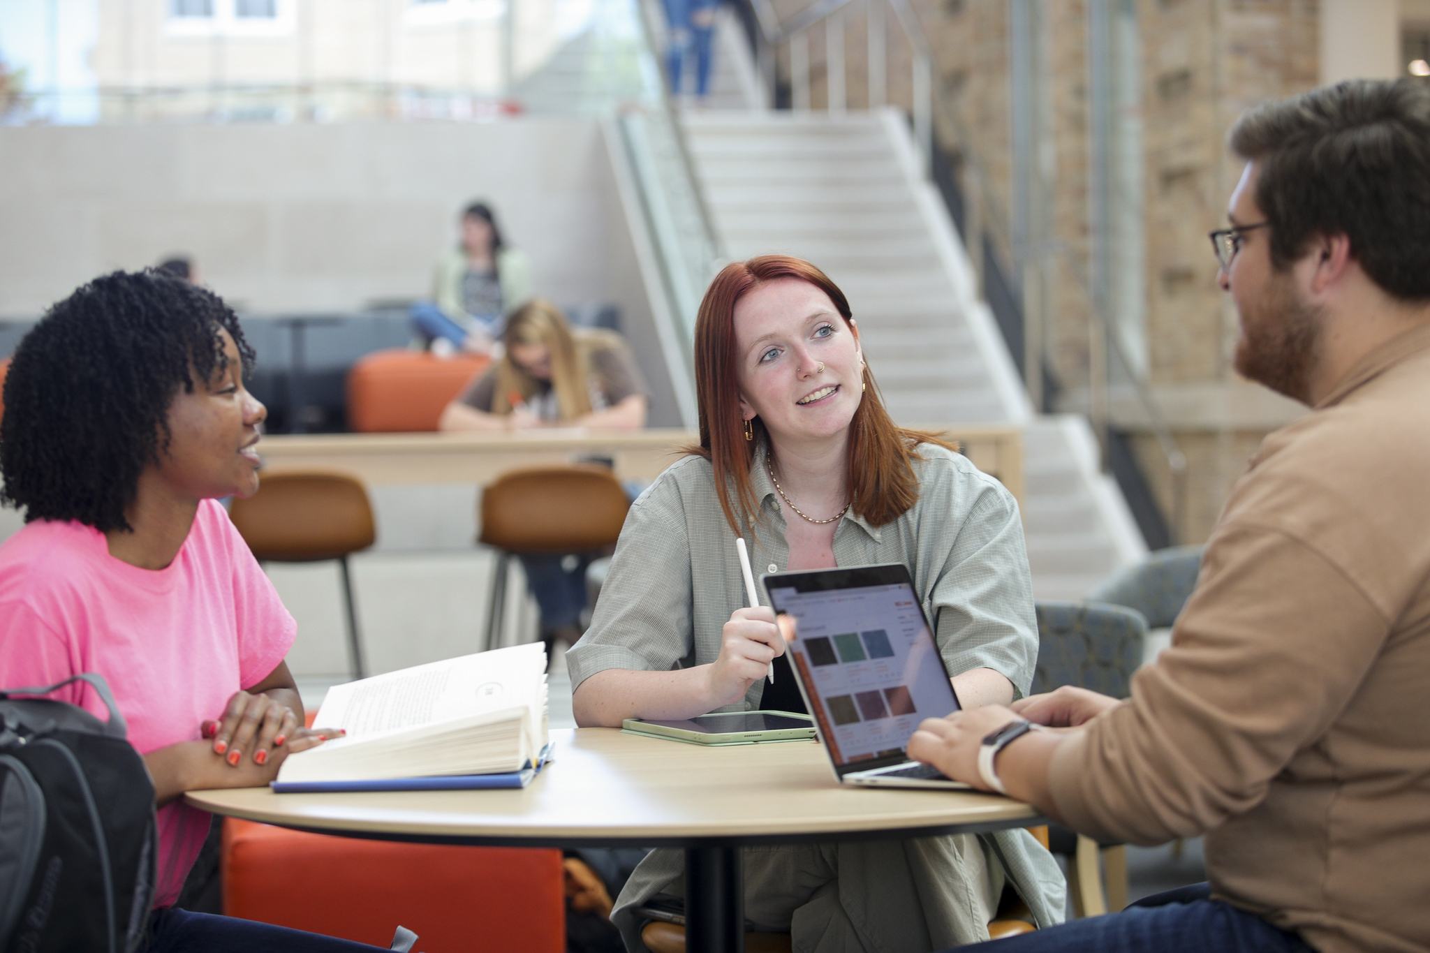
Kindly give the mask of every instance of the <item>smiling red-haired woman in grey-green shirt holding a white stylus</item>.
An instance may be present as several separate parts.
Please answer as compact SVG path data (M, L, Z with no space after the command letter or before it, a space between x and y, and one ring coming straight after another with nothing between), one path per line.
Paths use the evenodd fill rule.
M849 304L819 269L785 256L726 266L701 301L695 380L701 444L632 504L566 656L579 724L804 710L774 614L745 607L736 536L756 572L907 564L964 706L1028 690L1038 642L1017 503L894 426ZM751 847L744 870L746 917L792 932L797 949L978 940L1005 883L1040 926L1062 910L1057 864L1021 830ZM631 949L631 909L679 893L681 873L678 852L656 850L632 874L613 917Z

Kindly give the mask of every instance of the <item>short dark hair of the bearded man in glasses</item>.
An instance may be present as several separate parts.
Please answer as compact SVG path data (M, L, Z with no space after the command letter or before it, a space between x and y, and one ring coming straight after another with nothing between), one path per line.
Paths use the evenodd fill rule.
M1344 234L1386 293L1430 299L1430 83L1347 80L1266 103L1230 141L1257 164L1274 267L1318 236Z

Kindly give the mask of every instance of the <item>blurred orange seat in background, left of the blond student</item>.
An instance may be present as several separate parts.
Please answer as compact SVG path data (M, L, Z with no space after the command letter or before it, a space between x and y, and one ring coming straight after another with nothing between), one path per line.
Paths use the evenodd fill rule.
M368 354L347 371L347 429L436 430L442 409L489 363L480 354L438 357L405 349Z

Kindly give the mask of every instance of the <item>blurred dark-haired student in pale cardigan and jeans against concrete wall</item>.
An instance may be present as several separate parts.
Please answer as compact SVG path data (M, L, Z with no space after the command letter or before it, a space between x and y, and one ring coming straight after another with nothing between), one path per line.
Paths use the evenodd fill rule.
M462 210L460 229L458 247L438 260L432 300L412 307L412 323L433 350L485 354L502 333L502 314L531 297L531 267L502 240L485 201Z

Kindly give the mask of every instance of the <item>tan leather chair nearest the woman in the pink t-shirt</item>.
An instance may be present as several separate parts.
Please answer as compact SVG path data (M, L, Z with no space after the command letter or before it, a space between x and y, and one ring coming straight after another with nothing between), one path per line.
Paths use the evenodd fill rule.
M263 477L250 499L233 500L229 516L260 563L337 560L353 672L359 679L366 677L347 569L347 557L378 539L362 482L345 473L275 473Z

